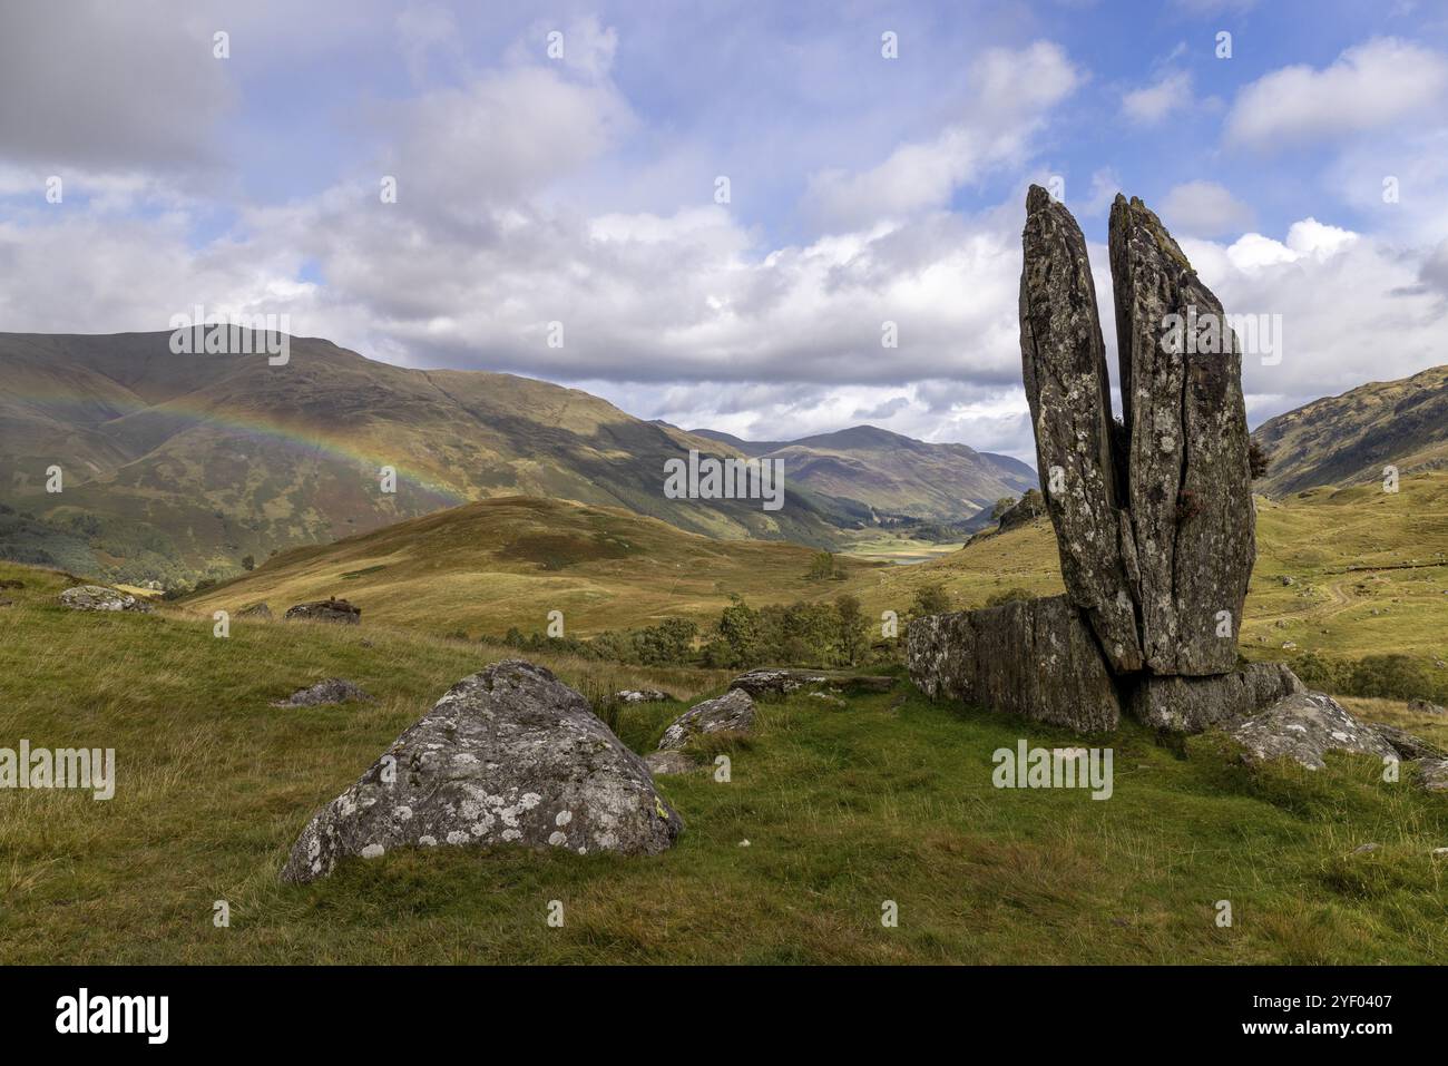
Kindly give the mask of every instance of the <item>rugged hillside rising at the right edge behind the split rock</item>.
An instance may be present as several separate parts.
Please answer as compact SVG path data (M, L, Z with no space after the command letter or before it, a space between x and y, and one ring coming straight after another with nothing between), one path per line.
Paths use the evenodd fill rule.
M1253 436L1273 456L1257 488L1274 497L1316 485L1381 485L1389 463L1399 471L1444 468L1448 366L1315 400Z

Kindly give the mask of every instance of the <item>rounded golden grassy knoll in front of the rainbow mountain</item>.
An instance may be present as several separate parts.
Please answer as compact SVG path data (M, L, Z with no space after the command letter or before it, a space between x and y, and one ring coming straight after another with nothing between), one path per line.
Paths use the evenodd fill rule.
M549 611L563 611L565 631L588 636L666 617L714 620L731 594L754 603L838 595L849 582L805 578L814 558L798 545L712 540L620 508L513 497L295 549L185 605L210 614L265 601L279 616L336 595L366 623L472 637L542 631Z

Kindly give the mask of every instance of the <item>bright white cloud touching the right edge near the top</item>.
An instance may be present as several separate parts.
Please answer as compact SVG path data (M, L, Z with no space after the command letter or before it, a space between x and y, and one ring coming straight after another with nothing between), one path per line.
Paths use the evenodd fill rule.
M1226 139L1279 148L1371 130L1448 104L1448 61L1407 41L1377 38L1329 67L1283 67L1237 94Z

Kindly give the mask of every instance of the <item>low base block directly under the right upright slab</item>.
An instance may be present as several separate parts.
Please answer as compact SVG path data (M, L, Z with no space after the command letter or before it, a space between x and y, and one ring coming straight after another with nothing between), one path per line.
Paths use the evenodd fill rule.
M1144 675L1131 692L1138 721L1176 733L1200 733L1257 714L1286 695L1308 691L1281 663L1258 662L1211 676Z

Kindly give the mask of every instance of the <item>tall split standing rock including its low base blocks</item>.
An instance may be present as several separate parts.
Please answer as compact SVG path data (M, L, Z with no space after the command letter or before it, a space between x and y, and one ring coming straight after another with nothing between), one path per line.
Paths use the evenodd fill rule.
M1066 595L915 620L912 679L1082 731L1118 711L1197 731L1300 692L1286 668L1237 669L1255 510L1221 301L1157 216L1118 196L1116 424L1086 239L1037 185L1022 249L1021 368Z

